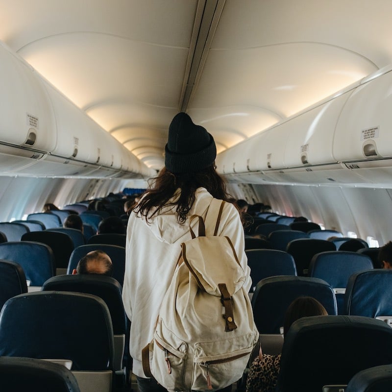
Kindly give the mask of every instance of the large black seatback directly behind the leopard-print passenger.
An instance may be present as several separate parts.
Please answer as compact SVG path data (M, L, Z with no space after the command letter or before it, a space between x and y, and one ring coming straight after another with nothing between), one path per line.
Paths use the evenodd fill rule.
M322 391L346 385L359 371L392 363L392 328L356 316L313 316L294 321L285 336L278 392Z

